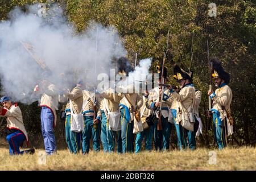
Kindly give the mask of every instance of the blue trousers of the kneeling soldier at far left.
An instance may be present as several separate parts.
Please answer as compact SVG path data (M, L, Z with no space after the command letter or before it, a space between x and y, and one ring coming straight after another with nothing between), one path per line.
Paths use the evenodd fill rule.
M16 130L14 133L7 135L6 140L9 143L10 155L24 153L24 151L19 151L19 147L22 146L23 142L26 140L26 137L19 130Z

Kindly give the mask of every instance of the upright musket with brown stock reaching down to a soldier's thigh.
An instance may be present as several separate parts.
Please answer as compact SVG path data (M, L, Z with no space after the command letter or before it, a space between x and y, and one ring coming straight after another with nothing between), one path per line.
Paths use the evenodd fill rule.
M167 54L167 50L168 50L168 43L169 43L169 35L170 35L170 30L168 30L168 35L167 35L167 43L166 43L166 52L164 52L163 55L163 64L162 64L162 73L161 73L161 80L160 80L160 84L164 84L164 78L163 78L163 72L164 72L164 63L166 61L166 54ZM160 89L162 89L162 93L159 94L159 99L158 102L160 102L160 107L159 107L159 111L158 111L158 125L157 125L157 130L163 130L162 127L162 100L163 100L163 86L160 86Z

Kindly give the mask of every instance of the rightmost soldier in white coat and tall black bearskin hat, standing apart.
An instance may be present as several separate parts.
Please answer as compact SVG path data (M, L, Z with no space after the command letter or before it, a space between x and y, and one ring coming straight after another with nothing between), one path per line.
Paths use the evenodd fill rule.
M213 101L212 109L208 111L208 117L213 117L214 139L218 144L218 149L226 147L226 137L233 134L233 118L230 114L230 104L232 102L232 90L228 86L230 81L229 73L222 68L221 61L217 58L210 60L213 65L212 77L214 78L215 92L208 91L208 95Z

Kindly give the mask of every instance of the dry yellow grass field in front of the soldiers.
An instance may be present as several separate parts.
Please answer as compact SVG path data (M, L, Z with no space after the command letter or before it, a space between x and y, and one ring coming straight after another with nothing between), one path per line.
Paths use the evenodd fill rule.
M140 154L90 151L88 155L73 155L68 150L59 150L56 155L44 156L44 150L39 149L34 155L10 156L7 143L1 140L0 170L256 170L256 148L216 149L213 150L216 160L210 151L207 148Z

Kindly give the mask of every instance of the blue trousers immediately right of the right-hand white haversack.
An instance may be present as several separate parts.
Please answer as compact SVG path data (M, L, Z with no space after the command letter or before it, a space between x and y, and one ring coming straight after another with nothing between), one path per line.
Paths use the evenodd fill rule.
M133 135L133 121L129 123L125 119L125 109L121 109L121 135L122 135L122 148L123 153L134 152L134 135ZM130 114L130 113L129 113Z

